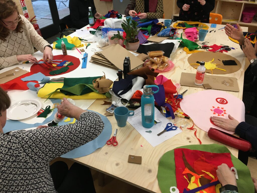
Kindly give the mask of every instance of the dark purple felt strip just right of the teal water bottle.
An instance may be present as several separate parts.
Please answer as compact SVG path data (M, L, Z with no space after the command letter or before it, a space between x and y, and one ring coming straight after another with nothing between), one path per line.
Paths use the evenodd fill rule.
M175 115L174 115L174 113L173 113L173 109L172 109L171 105L170 105L169 103L166 103L166 102L165 102L165 91L164 91L163 85L162 85L162 84L159 84L158 87L159 87L159 92L153 94L155 102L156 102L156 103L158 104L158 106L160 106L160 107L161 107L161 106L166 106L166 107L169 109L169 111L170 111L171 118L172 118L172 119L175 119ZM157 91L157 88L152 87L152 90L153 90L153 91Z

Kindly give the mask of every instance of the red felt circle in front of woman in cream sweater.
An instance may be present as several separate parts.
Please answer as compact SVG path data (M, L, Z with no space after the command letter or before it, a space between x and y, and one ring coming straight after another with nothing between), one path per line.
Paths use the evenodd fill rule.
M69 55L57 55L57 56L53 56L53 60L68 60L69 62L72 62L73 65L72 66L68 66L69 69L66 72L63 72L61 74L66 74L69 73L73 70L75 70L77 67L79 67L80 65L80 60L74 56L69 56ZM39 61L43 61L43 60L39 60ZM59 63L59 61L57 61ZM51 64L51 63L50 63ZM55 66L56 68L60 69L62 68L62 66ZM51 70L49 70L47 67L45 67L43 64L36 64L34 63L31 67L30 67L30 71L33 72L34 74L41 72L42 74L44 74L45 76L55 76L55 75L51 75L49 74L49 72L51 72ZM59 74L56 74L59 75Z

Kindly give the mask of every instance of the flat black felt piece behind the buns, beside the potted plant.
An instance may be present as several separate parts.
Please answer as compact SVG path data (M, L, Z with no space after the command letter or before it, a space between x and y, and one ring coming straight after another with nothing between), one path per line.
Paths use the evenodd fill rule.
M162 50L164 51L163 55L169 58L174 46L175 44L172 42L171 43L153 43L149 45L140 44L139 48L137 49L137 52L140 54L141 53L147 54L148 51Z

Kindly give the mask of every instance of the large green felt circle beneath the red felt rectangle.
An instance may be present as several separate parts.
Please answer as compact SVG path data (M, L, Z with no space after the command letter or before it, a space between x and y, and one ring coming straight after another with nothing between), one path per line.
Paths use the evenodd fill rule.
M218 144L185 145L177 148L187 148L212 153L230 153L228 148ZM236 183L239 192L254 192L253 181L247 166L232 154L231 161L237 170L238 180L236 180ZM170 193L170 187L177 187L174 150L166 152L161 157L158 166L157 180L162 193Z

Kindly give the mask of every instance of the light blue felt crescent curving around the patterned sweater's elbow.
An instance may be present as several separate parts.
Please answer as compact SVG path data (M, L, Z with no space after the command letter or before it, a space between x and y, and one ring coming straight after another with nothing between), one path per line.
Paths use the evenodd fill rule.
M92 112L95 112L95 111L92 111ZM104 122L104 129L102 133L93 141L90 141L85 145L77 147L76 149L71 150L66 154L63 154L61 157L77 158L77 157L83 157L83 156L89 155L93 153L95 150L97 150L98 148L103 147L106 144L107 140L111 138L112 125L110 121L105 116L99 114L98 112L95 112L95 113L100 115L100 117ZM67 125L67 122L62 121L58 125Z

